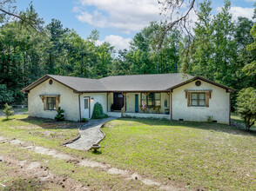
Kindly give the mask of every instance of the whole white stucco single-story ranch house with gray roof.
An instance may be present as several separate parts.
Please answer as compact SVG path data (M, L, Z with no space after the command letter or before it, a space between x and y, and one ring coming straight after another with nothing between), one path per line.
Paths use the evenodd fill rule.
M22 91L28 93L30 116L54 118L60 106L65 119L78 121L91 118L99 102L110 116L230 124L234 90L200 76L173 73L101 79L45 75Z

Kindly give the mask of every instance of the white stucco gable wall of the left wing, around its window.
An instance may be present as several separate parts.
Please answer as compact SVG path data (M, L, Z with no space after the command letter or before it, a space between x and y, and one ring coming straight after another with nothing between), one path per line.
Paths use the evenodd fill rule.
M44 102L42 102L39 95L60 95L58 106L64 109L65 119L77 121L79 119L78 95L74 94L72 89L57 81L52 80L53 82L50 85L49 80L30 90L28 95L29 115L54 119L57 111L44 110Z

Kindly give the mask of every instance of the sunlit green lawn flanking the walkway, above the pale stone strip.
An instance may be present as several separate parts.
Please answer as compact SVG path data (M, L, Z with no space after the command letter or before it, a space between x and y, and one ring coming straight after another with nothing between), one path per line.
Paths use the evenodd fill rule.
M75 128L51 128L55 137L49 138L42 134L49 129L43 128L41 119L26 115L15 118L7 122L0 118L0 135L106 162L185 188L256 189L255 130L247 132L207 122L118 119L102 128L106 137L100 142L101 154L95 155L61 146L65 136L71 138L70 132L76 133Z

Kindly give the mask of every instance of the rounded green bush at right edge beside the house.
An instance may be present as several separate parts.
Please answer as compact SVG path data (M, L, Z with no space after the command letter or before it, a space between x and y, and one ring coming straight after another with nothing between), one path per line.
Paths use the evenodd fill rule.
M237 99L237 112L244 119L249 130L256 122L256 89L241 89Z

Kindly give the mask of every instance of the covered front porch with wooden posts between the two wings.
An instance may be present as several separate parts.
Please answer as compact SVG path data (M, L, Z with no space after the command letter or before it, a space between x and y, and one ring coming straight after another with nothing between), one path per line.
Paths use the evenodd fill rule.
M171 119L171 92L108 92L110 116L154 117Z

